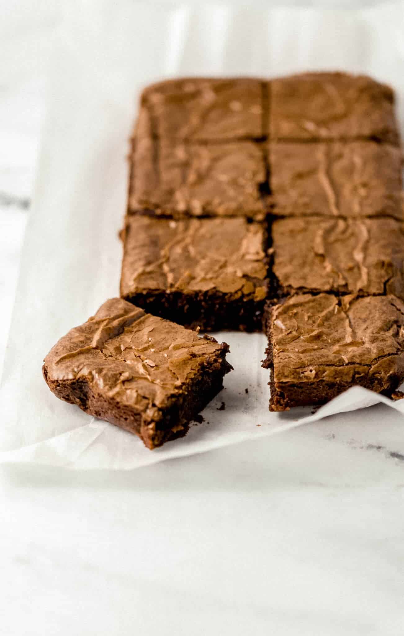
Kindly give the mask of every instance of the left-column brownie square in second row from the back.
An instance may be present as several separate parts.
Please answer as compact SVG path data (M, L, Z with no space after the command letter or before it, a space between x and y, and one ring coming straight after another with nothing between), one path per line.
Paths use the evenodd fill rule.
M134 142L128 212L148 209L173 216L266 214L264 148L250 141L171 144L150 137Z

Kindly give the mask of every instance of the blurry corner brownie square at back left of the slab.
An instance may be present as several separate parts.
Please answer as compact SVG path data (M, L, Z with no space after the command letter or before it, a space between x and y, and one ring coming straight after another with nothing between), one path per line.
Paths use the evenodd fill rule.
M259 79L184 78L149 86L141 104L157 137L217 142L261 137L264 100Z

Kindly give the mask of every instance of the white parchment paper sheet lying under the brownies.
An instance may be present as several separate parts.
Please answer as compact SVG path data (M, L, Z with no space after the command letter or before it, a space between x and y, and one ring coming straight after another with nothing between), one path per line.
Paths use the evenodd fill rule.
M0 461L130 469L360 408L366 425L373 411L365 407L379 402L403 420L404 404L359 387L315 414L269 413L263 335L216 335L231 345L234 371L224 391L204 411L203 424L154 452L59 401L41 376L43 357L58 338L118 294L125 154L142 86L185 74L344 69L391 83L402 121L403 32L402 3L362 10L66 3L4 364Z

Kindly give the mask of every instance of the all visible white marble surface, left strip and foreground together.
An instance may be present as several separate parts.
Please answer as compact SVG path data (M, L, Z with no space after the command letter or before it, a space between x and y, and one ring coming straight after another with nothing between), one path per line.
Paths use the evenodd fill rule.
M16 4L0 15L16 58L0 64L0 365L59 19ZM1 467L1 633L398 635L404 435L371 411L128 473Z

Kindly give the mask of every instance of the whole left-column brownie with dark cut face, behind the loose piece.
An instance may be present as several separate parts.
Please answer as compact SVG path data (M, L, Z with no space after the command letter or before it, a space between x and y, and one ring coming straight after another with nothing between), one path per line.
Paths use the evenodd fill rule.
M121 296L205 330L262 329L266 226L244 218L128 216Z

